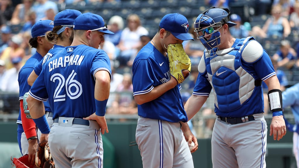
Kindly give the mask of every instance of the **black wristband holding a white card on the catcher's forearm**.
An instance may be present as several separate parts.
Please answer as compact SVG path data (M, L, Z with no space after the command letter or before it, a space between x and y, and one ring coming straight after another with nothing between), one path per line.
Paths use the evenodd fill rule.
M278 93L278 97L274 95L274 97L272 97L272 100L271 100L269 95L274 92ZM277 100L277 99L279 99L279 100ZM268 100L269 100L270 110L272 113L282 111L282 92L280 89L270 90L268 92ZM275 106L275 107L273 107L273 106Z

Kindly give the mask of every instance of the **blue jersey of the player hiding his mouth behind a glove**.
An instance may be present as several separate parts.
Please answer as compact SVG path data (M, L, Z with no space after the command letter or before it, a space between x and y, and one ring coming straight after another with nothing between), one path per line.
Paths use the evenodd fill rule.
M170 80L168 58L163 56L150 42L137 54L132 65L133 95L146 94L154 87ZM168 122L187 122L180 94L180 85L170 89L150 102L138 105L138 115Z

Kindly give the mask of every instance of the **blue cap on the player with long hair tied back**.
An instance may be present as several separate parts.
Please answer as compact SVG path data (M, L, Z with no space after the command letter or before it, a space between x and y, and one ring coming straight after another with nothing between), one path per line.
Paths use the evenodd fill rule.
M79 10L66 9L54 17L54 26L73 26L75 19L81 15Z

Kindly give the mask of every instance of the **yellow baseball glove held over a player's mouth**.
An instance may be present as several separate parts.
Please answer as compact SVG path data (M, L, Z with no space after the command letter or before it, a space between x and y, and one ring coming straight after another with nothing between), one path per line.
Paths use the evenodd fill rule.
M182 44L170 44L167 47L167 54L169 59L170 74L176 78L178 83L182 83L187 77L183 75L183 70L191 71L190 58L184 51Z

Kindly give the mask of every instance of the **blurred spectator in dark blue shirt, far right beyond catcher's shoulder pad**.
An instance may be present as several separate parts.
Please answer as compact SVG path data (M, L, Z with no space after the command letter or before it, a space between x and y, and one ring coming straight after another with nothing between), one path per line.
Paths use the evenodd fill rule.
M279 50L272 56L277 61L279 68L291 69L296 63L297 57L295 50L291 47L288 40L280 42Z

